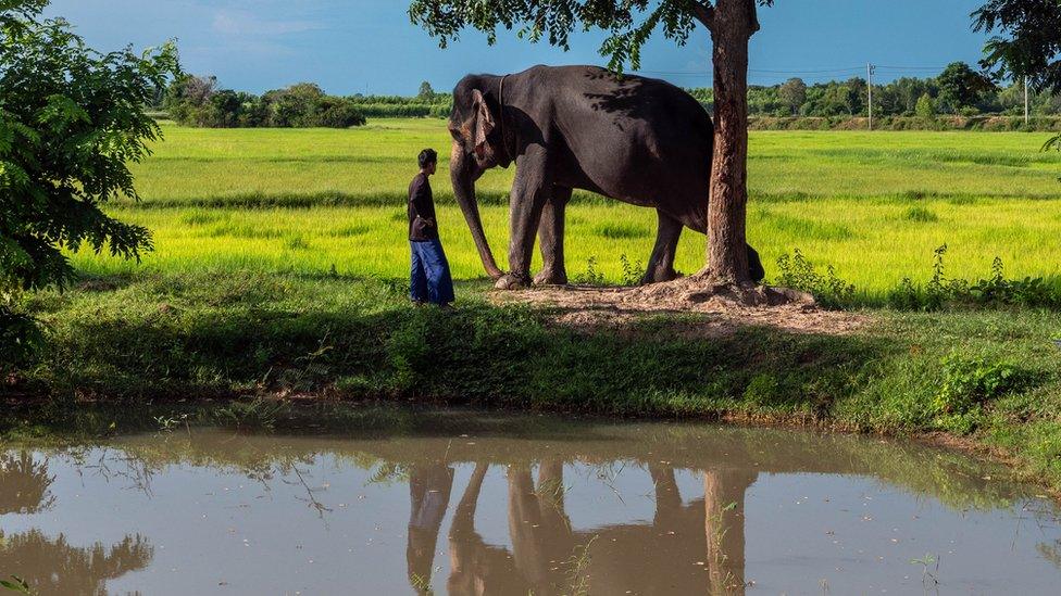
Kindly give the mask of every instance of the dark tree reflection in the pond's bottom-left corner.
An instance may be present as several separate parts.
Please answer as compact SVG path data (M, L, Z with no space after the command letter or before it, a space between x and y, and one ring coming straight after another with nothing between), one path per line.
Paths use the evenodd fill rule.
M139 534L110 547L71 546L66 536L49 538L38 530L14 535L0 532L0 569L16 574L34 594L105 594L105 583L146 568L154 548Z

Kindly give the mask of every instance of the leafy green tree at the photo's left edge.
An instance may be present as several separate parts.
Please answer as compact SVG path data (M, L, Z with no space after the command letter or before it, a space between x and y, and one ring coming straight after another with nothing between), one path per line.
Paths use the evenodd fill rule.
M178 69L172 45L98 53L62 18L41 21L43 4L0 2L0 317L15 348L32 326L11 296L68 282L64 251L139 261L151 249L147 229L100 205L138 199L129 164L161 137L143 110Z

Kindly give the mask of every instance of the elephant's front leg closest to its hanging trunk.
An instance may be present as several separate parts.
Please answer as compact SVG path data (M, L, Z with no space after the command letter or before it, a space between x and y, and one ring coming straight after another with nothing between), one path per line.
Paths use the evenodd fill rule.
M498 290L530 284L530 254L541 212L549 201L552 185L546 172L545 150L534 148L516 162L515 185L509 199L509 272L495 284Z

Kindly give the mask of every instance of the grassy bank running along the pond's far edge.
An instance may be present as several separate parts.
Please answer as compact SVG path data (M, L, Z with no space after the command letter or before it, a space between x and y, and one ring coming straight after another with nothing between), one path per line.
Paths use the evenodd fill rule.
M1057 313L877 312L854 335L746 327L706 340L687 332L706 315L586 333L548 310L491 306L484 286L462 283L463 307L445 313L408 306L402 282L378 279L97 279L34 299L51 343L4 393L46 395L53 411L86 398L313 394L944 431L1004 448L1061 489Z

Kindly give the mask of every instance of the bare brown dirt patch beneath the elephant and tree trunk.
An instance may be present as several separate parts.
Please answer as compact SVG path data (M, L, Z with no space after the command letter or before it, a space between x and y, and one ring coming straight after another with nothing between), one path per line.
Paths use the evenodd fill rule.
M692 278L640 288L556 286L495 291L490 300L549 307L554 322L585 331L628 327L648 316L667 314L695 315L675 321L669 331L703 338L731 335L741 327L846 335L870 321L864 315L820 308L809 295L791 290L734 290L704 286Z

